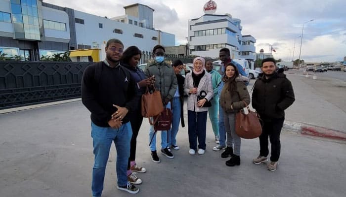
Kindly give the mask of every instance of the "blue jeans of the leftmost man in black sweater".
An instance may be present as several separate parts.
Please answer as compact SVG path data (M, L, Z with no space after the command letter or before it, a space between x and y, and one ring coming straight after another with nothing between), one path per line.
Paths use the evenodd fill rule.
M130 141L132 129L130 122L123 124L119 129L98 127L91 122L91 137L95 155L94 166L92 168L91 190L93 196L101 196L103 181L108 162L109 151L114 141L117 149L117 176L118 186L128 183L126 170L130 156Z

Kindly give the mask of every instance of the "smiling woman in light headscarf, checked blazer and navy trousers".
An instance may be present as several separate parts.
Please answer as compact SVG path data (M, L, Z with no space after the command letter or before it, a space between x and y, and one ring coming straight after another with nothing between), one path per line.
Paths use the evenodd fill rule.
M208 107L205 106L213 98L212 75L204 70L205 59L197 57L193 60L193 71L186 74L184 91L188 94L187 122L190 150L194 155L197 150L202 155L206 150L206 127ZM205 96L204 99L198 96Z

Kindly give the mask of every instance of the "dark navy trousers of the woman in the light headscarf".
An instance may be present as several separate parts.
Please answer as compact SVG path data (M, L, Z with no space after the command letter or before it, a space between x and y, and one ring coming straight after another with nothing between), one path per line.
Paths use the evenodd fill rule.
M197 149L198 139L198 148L206 150L207 115L208 111L195 112L187 110L190 149Z

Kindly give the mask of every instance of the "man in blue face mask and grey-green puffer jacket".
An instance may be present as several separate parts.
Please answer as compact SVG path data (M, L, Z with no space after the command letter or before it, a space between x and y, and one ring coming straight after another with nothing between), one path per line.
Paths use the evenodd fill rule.
M178 82L172 66L168 66L165 63L165 48L161 45L156 45L153 49L153 54L155 57L154 62L148 63L144 68L144 74L147 77L155 77L154 86L156 90L160 91L162 102L167 108L171 108L171 99L173 98ZM171 149L168 145L167 134L169 131L161 131L161 153L166 157L173 159L174 156L171 153ZM154 127L150 126L149 141L152 140L150 144L151 159L155 163L160 163L160 159L156 152L156 132Z

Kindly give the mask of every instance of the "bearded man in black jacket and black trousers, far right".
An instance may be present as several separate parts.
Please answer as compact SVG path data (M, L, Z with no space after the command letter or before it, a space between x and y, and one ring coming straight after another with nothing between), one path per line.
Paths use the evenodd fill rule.
M268 136L271 143L270 163L268 170L275 171L280 157L280 133L285 120L285 112L295 101L290 80L283 73L275 72L275 60L262 60L263 76L255 83L252 94L252 106L263 120L262 134L259 136L259 156L253 160L254 164L267 162Z

